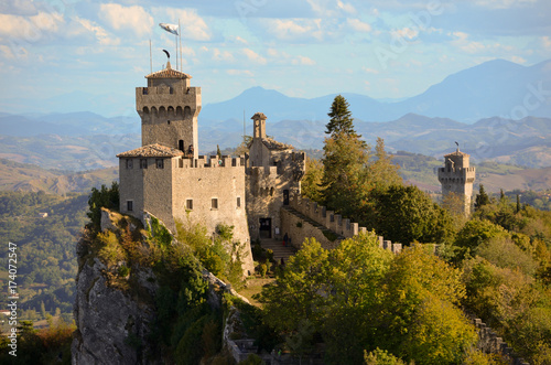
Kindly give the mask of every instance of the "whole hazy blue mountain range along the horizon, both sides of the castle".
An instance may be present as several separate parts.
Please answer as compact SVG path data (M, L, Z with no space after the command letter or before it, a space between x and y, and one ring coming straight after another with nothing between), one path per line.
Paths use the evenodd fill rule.
M393 103L343 95L357 131L371 144L383 138L390 151L441 158L457 141L474 161L551 165L551 61L530 67L486 62ZM252 87L230 100L207 104L198 117L199 153L239 144L244 122L251 135L249 118L256 111L268 116L267 130L276 139L321 149L333 98L293 98ZM140 146L140 126L137 114L0 112L0 158L71 171L112 167L117 153Z

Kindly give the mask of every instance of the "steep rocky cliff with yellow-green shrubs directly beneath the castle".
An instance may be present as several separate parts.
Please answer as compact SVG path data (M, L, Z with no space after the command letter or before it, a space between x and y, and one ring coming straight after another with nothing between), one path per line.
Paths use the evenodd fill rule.
M223 293L240 296L162 223L147 222L144 229L102 210L100 229L86 229L79 240L73 364L192 364L218 356ZM216 329L215 340L202 353L206 328Z

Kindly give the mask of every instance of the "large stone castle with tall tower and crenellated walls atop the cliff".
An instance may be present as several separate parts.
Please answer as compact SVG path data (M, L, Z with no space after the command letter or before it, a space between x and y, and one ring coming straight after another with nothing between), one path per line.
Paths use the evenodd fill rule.
M234 226L252 270L250 238L280 234L280 210L300 193L305 154L268 138L267 117L257 112L249 154L199 155L201 87L170 62L145 78L148 86L136 88L142 147L117 154L120 212L140 219L149 212L173 232L176 221L199 223L213 235L218 225Z

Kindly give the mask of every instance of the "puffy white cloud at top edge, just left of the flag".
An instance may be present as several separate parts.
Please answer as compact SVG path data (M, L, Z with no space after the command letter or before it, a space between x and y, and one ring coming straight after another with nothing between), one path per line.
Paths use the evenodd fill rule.
M132 30L138 36L143 36L149 34L153 28L153 17L142 7L102 3L99 10L99 17L117 31Z

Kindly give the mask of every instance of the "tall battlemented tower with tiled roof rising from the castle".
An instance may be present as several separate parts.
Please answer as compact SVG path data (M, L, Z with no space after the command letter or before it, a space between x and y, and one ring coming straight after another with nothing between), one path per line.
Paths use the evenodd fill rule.
M173 69L170 62L145 78L148 87L136 88L142 146L160 143L196 159L201 87L191 87L192 76Z

